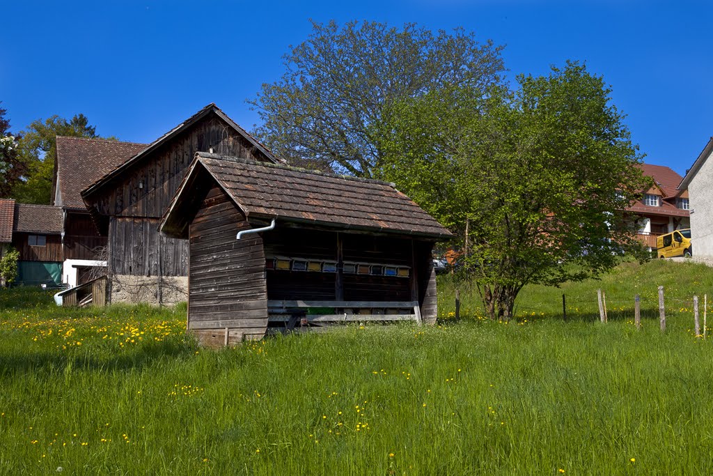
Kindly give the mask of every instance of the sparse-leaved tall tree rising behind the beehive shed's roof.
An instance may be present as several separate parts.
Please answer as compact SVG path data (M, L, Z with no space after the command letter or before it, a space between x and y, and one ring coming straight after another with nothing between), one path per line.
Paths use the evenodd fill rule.
M369 177L384 155L373 128L384 107L446 86L485 91L501 81L501 49L463 29L313 22L282 78L249 101L264 121L255 134L293 163Z

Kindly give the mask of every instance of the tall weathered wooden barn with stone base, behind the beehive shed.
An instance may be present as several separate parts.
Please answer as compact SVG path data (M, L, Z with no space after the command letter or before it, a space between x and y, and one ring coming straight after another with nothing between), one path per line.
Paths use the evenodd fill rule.
M112 302L185 300L188 243L160 235L158 222L198 151L280 162L211 103L87 186L81 197L107 240Z

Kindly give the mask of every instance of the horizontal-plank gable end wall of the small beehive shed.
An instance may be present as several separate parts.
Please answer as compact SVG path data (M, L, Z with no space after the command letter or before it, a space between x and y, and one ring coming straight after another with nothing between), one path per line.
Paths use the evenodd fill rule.
M189 330L229 328L231 335L244 338L265 335L262 238L235 239L238 231L248 228L253 227L220 188L207 193L190 225Z

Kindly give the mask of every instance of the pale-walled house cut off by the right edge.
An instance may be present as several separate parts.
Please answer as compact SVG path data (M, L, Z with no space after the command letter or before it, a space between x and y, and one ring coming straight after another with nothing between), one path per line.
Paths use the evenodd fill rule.
M713 257L713 137L689 168L679 191L690 193L694 256Z

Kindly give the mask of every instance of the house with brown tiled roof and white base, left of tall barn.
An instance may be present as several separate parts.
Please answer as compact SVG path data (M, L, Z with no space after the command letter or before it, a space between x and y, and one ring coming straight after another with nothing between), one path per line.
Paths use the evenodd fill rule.
M52 204L63 211L63 283L84 283L106 268L106 236L92 222L81 191L145 147L141 143L57 136Z

